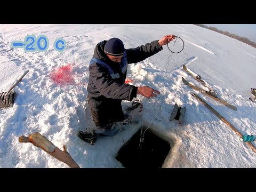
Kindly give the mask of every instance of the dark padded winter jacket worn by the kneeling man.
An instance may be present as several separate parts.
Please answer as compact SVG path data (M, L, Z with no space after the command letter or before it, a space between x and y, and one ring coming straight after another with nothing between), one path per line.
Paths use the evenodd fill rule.
M127 66L121 69L121 64L111 61L104 53L104 46L107 41L97 44L94 49L93 58L99 59L111 68L119 78L113 78L109 69L99 62L91 62L89 66L90 76L87 86L89 105L93 121L96 126L105 126L115 121L122 121L124 118L121 102L131 101L137 97L137 87L125 84ZM127 64L137 63L163 50L158 40L134 49L126 49L122 58Z

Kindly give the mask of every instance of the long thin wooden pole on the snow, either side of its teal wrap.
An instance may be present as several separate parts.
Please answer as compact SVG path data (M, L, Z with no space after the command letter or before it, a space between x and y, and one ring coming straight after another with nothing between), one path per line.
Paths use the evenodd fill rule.
M226 123L239 137L243 138L243 134L239 132L231 123L228 122L226 118L220 115L215 109L213 109L210 105L208 105L202 98L200 98L196 93L190 92L196 99L201 101L205 107L210 109L212 113L214 113L217 117L221 119L222 122ZM251 142L245 142L249 147L256 153L256 147L252 145Z

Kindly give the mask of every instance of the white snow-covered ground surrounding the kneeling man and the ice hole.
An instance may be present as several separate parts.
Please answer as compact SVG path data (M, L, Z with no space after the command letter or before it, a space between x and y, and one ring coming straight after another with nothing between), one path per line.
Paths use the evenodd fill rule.
M180 53L170 51L181 49L182 41L177 38L175 44L169 44L170 50L164 45L162 51L127 68L127 78L134 80L130 84L161 92L151 99L137 95L143 103L140 121L113 137L99 138L94 145L79 139L78 130L94 125L86 87L95 45L117 37L128 49L168 34L183 40ZM28 35L36 42L39 37L42 42L48 39L49 47L44 52L12 47L14 41L24 43ZM65 48L56 43L58 39L66 42ZM68 168L41 148L18 140L21 135L39 132L61 150L66 145L81 168L123 168L115 156L142 126L172 143L163 168L256 167L254 151L190 93L203 98L242 134L255 135L255 103L249 100L250 88L256 88L255 58L254 47L195 25L0 25L0 92L7 91L29 70L14 88L17 97L13 107L0 109L0 167ZM183 65L200 75L237 111L185 85L182 77L205 89L183 70ZM53 74L64 69L68 83L54 80ZM175 119L170 121L175 103L186 107L181 125ZM123 109L130 105L130 101L122 102Z

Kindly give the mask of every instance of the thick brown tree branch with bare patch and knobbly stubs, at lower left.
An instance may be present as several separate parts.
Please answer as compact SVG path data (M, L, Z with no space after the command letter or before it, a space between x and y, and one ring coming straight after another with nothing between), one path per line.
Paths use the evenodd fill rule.
M46 153L50 154L59 161L66 163L71 168L79 168L79 165L74 161L67 151L67 146L63 145L63 151L58 147L54 146L51 141L46 139L43 135L38 132L32 133L29 137L19 137L19 142L31 142L36 147L43 149Z

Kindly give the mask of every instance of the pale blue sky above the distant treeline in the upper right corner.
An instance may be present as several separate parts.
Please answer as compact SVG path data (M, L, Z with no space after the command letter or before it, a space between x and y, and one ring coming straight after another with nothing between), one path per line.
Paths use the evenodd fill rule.
M222 31L228 31L230 34L236 34L246 37L252 42L256 42L256 24L204 24L206 26L216 27Z

